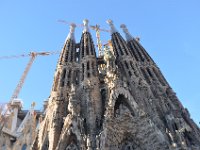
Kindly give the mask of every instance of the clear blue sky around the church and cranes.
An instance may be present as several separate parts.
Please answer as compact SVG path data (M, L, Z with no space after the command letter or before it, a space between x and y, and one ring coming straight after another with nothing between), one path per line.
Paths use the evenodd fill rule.
M127 25L133 36L160 67L192 118L200 121L200 1L199 0L18 0L0 1L0 56L27 54L30 51L61 50L69 27L63 19L109 29L112 19L119 30ZM76 29L76 41L81 28ZM95 39L95 34L93 38ZM123 34L122 34L123 35ZM110 38L102 33L102 41ZM29 58L0 60L0 102L8 102ZM24 108L35 101L37 109L47 99L58 55L37 57L21 90Z

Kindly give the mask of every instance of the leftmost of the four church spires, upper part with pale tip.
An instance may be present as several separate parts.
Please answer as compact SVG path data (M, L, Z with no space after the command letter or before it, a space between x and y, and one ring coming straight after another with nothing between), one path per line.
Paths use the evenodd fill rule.
M78 75L74 73L72 70L73 67L70 65L72 63L77 63L76 43L74 36L75 27L76 25L73 23L70 25L69 34L65 40L65 44L60 54L58 68L54 77L53 91L60 91L60 88L65 86L69 87L71 83L75 82L75 79L78 80Z

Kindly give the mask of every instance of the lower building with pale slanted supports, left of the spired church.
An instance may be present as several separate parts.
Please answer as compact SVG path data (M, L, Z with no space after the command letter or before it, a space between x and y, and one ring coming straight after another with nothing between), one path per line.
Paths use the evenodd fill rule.
M42 112L34 110L32 104L30 110L22 109L22 101L14 99L5 106L1 115L0 111L0 149L1 150L28 150L33 139L37 135L37 124ZM3 107L2 107L3 108Z

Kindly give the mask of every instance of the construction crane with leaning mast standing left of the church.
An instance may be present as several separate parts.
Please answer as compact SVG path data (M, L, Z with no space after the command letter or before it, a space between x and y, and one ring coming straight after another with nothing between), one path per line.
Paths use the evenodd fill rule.
M9 111L9 107L10 104L12 103L12 101L16 98L18 98L18 95L23 87L23 84L25 82L25 79L27 77L27 74L35 60L35 58L37 56L48 56L48 55L53 55L53 54L58 54L60 53L60 51L49 51L49 52L30 52L29 54L22 54L22 55L12 55L12 56L3 56L0 57L1 59L12 59L12 58L21 58L21 57L30 57L30 60L28 62L28 64L26 65L26 68L17 84L17 87L15 88L9 103L7 103L7 107L6 110L4 110L3 112L0 113L0 125L2 124L2 126L4 125L4 121L5 121L5 116L7 115L8 111ZM1 127L2 128L2 127Z

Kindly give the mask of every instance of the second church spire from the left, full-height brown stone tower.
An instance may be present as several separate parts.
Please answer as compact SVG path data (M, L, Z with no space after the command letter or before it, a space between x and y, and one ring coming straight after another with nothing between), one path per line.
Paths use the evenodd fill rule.
M81 85L83 85L84 94L82 103L84 110L81 115L86 119L87 134L92 138L87 139L88 149L95 149L95 136L99 129L96 129L96 120L101 118L101 96L99 89L99 78L97 72L97 58L92 36L89 31L88 20L83 20L84 29L80 41L80 68ZM87 114L87 115L86 115Z

